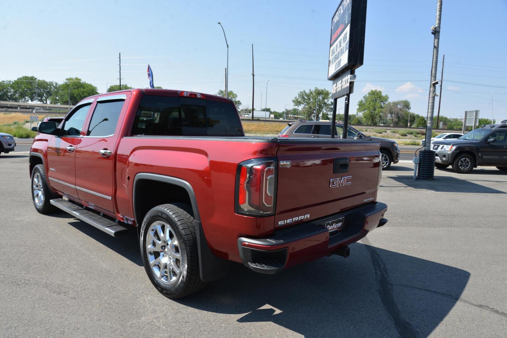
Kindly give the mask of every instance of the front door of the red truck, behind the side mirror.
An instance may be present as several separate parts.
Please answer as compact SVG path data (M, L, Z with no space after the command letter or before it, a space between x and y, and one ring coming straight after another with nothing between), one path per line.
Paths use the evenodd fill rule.
M69 112L61 126L61 136L53 136L48 142L48 178L53 189L75 199L75 152L80 144L81 131L91 103L82 104Z

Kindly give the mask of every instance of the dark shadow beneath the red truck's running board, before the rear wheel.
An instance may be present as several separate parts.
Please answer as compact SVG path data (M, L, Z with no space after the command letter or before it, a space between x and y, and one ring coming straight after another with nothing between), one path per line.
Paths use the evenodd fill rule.
M139 253L139 242L137 240L137 230L135 228L130 227L125 236L115 238L79 219L75 219L75 221L71 221L68 224L142 267L141 254Z

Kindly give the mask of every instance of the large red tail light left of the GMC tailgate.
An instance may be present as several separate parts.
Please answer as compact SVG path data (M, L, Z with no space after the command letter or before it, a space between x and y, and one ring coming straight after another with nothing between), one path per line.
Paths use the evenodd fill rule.
M268 216L275 212L276 173L273 158L241 162L236 174L236 213Z

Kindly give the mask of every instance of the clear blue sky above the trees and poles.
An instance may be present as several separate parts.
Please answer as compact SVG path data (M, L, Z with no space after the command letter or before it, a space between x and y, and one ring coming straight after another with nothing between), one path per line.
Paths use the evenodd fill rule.
M292 107L298 91L331 90L327 58L331 17L339 1L18 1L0 4L0 80L23 75L63 81L80 77L104 92L118 83L216 93L224 89L229 42L229 89L252 105ZM365 63L357 69L351 114L369 89L408 99L426 115L437 1L368 2ZM507 0L444 0L439 72L446 54L441 114L479 109L507 119ZM110 84L108 84L110 85ZM343 107L343 99L338 107ZM341 109L343 111L343 109Z

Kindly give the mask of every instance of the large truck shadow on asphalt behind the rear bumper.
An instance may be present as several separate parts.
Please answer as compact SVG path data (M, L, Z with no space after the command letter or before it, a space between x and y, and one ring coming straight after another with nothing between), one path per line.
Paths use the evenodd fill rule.
M262 275L234 264L227 278L176 301L238 322L273 322L304 336L426 337L458 301L470 274L417 257L351 245Z

